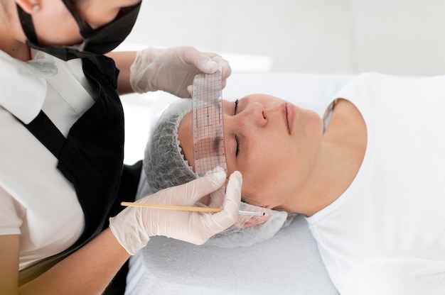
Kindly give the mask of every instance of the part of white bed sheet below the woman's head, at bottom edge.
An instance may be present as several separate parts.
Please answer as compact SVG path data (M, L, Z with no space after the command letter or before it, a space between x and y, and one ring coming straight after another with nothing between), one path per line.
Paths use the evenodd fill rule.
M152 238L130 265L126 294L338 294L303 216L250 247Z

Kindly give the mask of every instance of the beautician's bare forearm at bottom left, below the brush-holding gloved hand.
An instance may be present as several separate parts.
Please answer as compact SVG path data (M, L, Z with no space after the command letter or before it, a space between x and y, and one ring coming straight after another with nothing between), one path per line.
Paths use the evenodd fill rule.
M21 286L19 294L102 294L129 256L107 228L40 277Z

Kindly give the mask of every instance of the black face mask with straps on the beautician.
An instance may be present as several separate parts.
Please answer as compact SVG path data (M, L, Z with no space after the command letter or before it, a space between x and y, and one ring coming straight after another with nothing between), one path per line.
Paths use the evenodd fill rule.
M122 43L127 35L132 31L136 22L137 14L141 8L141 2L134 6L122 8L114 21L105 26L93 30L75 11L72 0L62 0L67 9L73 15L77 26L80 28L83 43L74 46L42 46L38 44L36 30L33 25L31 15L23 11L17 5L18 16L21 21L21 27L26 35L26 45L30 48L41 50L61 60L72 60L78 57L90 57L94 55L103 55Z

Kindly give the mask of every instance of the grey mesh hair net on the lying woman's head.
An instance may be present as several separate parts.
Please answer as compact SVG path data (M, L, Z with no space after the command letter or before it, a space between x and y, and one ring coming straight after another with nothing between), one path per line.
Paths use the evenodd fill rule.
M191 99L174 102L164 111L151 130L144 152L144 172L139 185L138 198L156 191L185 184L198 178L184 159L179 146L178 126L192 110ZM144 177L146 182L144 182ZM249 246L272 238L277 231L290 223L294 215L241 202L240 210L266 212L266 216L240 215L237 222L222 233L214 235L205 245L219 247Z

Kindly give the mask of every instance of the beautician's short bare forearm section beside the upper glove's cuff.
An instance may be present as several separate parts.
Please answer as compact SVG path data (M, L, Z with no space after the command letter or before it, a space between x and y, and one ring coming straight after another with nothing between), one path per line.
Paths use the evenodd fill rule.
M134 92L130 85L130 67L136 57L135 51L117 51L109 52L107 57L111 57L119 69L119 77L117 80L117 91L119 94L129 94Z

